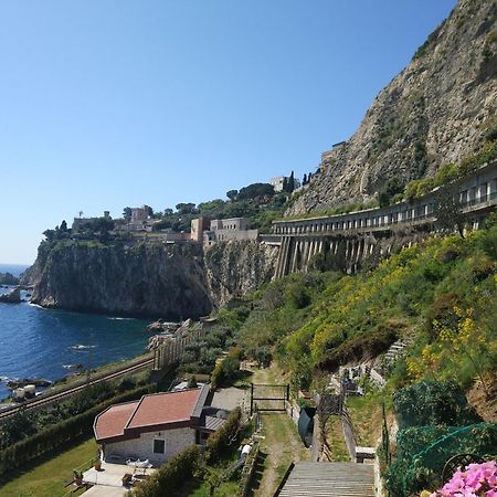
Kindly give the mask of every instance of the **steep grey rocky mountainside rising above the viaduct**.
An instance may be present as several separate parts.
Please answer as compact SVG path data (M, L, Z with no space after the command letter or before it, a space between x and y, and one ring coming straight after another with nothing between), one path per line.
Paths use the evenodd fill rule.
M433 176L480 147L497 124L497 2L459 0L377 96L359 129L322 155L287 214L374 198L391 178Z

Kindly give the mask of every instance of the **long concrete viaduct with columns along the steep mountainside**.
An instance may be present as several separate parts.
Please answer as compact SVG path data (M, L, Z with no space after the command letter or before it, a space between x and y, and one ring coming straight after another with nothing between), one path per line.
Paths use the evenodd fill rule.
M497 161L452 184L466 224L478 229L497 205ZM263 243L279 246L274 278L307 271L317 254L334 261L336 268L356 272L366 260L390 253L395 243L405 245L416 233L436 230L436 194L437 189L384 208L274 221L273 234L261 235Z

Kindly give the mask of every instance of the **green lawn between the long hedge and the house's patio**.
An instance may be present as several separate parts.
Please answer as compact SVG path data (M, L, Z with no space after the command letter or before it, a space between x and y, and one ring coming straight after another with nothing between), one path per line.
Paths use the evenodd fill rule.
M97 444L94 438L80 443L66 452L39 464L0 485L2 497L56 497L63 496L71 487L64 488L72 478L73 469L95 457Z

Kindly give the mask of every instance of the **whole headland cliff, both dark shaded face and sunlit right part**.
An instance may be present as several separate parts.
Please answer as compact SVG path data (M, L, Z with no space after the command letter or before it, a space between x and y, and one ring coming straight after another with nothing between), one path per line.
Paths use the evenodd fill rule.
M120 316L198 318L271 279L277 251L254 242L214 245L42 242L31 302Z

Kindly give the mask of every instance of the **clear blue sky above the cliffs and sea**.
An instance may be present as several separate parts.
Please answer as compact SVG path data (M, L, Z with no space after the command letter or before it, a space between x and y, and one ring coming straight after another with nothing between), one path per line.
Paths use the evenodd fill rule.
M0 262L314 170L455 0L1 0Z

